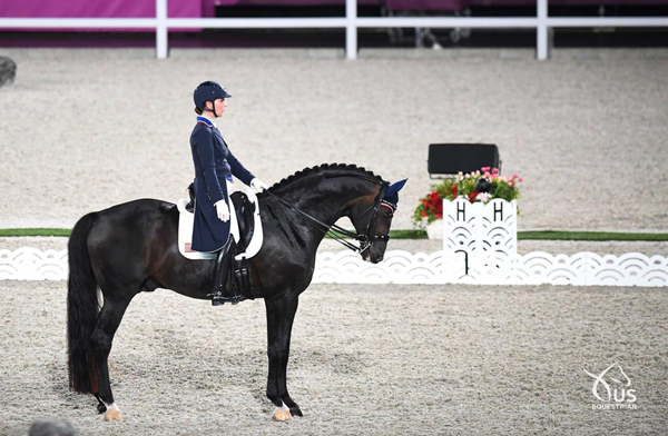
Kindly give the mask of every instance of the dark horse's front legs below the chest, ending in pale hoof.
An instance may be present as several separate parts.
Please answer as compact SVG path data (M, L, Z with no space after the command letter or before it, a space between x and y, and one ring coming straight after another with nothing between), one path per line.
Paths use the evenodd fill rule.
M287 420L293 415L302 416L299 406L287 393L287 360L293 320L297 311L298 298L267 298L267 355L269 374L267 377L267 397L274 403L274 419Z

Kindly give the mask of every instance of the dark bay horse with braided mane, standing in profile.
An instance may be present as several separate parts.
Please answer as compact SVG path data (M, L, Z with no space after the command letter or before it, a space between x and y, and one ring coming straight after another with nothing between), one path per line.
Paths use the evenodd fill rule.
M311 283L324 236L286 205L326 226L347 216L358 234L380 235L375 239L371 235L373 242L363 251L363 258L375 264L383 259L384 236L392 221L393 209L379 206L380 192L386 192L387 185L364 168L334 164L298 171L258 195L264 242L248 262L252 286L266 306L266 395L276 406L278 420L302 416L287 393L289 340L298 297ZM189 260L180 255L178 219L175 205L140 199L90 212L72 229L67 304L70 388L95 395L105 419L122 419L111 394L107 358L132 297L165 288L210 298L215 260Z

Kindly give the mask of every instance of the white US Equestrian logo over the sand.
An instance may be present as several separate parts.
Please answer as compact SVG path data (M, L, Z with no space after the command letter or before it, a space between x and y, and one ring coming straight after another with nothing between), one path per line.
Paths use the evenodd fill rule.
M592 409L631 409L638 408L636 402L636 389L630 389L631 379L623 371L618 363L613 363L598 376L584 369L587 375L593 378L591 393L598 399L598 403L592 404ZM619 373L619 375L617 375ZM613 377L617 376L617 377Z

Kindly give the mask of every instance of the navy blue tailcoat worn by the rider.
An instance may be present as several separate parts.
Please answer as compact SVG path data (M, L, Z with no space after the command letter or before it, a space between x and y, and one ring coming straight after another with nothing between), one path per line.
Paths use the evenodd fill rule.
M232 175L249 185L253 176L227 148L220 131L205 117L197 117L190 135L190 150L195 164L195 225L193 227L193 249L216 251L229 237L229 221L218 219L216 207L219 200L230 206L225 180Z

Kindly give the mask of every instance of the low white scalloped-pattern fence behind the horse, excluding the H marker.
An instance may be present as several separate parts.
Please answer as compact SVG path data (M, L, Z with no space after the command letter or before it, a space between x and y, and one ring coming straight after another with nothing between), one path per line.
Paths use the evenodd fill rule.
M462 256L452 256L445 250L415 255L390 250L385 260L376 265L365 262L360 255L347 250L320 252L313 283L668 286L668 258L664 256L648 257L637 252L567 256L534 251L515 255L505 261L492 259L484 267L466 269ZM0 280L67 280L67 249L42 251L22 247L13 251L0 250Z

